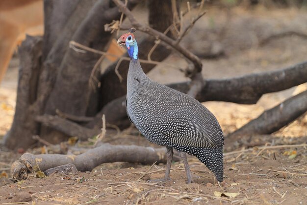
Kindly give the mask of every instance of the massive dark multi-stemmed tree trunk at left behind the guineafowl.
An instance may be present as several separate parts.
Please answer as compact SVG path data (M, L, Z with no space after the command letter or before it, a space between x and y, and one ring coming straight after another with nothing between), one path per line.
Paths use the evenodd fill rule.
M139 1L129 0L127 7L131 9ZM149 7L149 21L155 29L164 31L173 23L173 14L169 12L171 1L150 0ZM21 48L23 57L18 103L13 126L5 137L5 145L11 149L31 146L34 143L32 136L36 134L51 143L58 143L66 139L67 135L63 132L41 126L35 121L35 119L42 120L42 117L39 116L44 114L53 116L56 110L60 110L69 115L95 117L104 105L126 92L125 82L116 83L118 78L114 73L115 65L110 66L101 78L100 73L96 72L95 77L102 80L102 87L97 87L95 90L90 89L88 86L90 75L101 56L89 52L78 52L69 47L69 42L74 40L90 48L106 51L112 34L104 31L103 25L112 20L118 20L121 16L121 12L112 1L45 0L44 11L45 34L43 42L40 40L40 46L35 50L39 50L39 54L34 53L31 47L32 44L37 43L27 42L30 45L24 45ZM140 55L142 58L147 58L147 54L154 45L154 40L151 37L141 43L145 50L143 56ZM26 49L27 47L29 48ZM28 54L23 51L29 49ZM170 53L171 51L165 47L158 46L153 52L152 59L162 60ZM34 64L31 67L30 60L34 59L36 61L40 59L40 64ZM124 62L120 66L120 70L125 68L124 76L127 76L127 65L127 62ZM144 67L148 72L154 66L145 65ZM30 74L25 74L24 70ZM109 93L114 95L109 96ZM84 125L82 122L79 123ZM48 123L44 124L48 125ZM75 125L78 124L73 124ZM87 131L91 133L90 129ZM23 140L20 139L20 136L23 136Z

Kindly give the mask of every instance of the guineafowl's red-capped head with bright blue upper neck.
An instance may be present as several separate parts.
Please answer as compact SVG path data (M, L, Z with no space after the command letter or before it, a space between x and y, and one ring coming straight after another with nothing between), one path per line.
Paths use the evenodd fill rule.
M137 43L133 35L134 31L135 31L134 28L129 29L128 33L123 34L117 40L117 44L119 46L126 45L130 58L137 59L138 47L137 47Z

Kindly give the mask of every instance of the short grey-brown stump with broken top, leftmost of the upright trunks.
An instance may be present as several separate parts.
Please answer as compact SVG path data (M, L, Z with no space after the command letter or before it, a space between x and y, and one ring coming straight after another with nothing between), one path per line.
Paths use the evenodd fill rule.
M34 117L38 109L34 105L37 79L40 73L42 57L42 38L26 36L18 49L20 68L18 77L16 111L12 127L4 137L5 146L11 149L31 146L38 134L38 123Z

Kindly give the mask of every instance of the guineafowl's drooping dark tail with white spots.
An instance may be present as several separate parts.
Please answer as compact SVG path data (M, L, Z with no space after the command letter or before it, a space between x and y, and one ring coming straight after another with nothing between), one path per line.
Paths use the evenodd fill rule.
M196 157L214 173L219 182L223 181L223 147L202 147Z

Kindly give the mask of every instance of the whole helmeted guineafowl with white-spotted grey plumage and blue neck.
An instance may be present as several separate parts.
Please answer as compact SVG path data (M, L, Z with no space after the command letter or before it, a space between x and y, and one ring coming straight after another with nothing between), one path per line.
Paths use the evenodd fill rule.
M186 153L196 156L223 181L224 136L221 127L200 102L193 97L149 79L138 59L134 28L117 41L126 45L130 56L127 79L126 109L130 121L147 140L167 148L163 181L170 179L173 148L183 160L188 183L191 172Z

